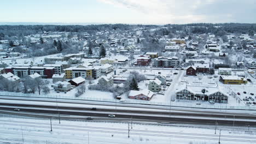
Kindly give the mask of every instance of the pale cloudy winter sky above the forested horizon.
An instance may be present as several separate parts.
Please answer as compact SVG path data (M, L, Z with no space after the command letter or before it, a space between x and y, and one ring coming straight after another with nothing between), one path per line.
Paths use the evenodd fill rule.
M256 0L8 0L0 22L256 23Z

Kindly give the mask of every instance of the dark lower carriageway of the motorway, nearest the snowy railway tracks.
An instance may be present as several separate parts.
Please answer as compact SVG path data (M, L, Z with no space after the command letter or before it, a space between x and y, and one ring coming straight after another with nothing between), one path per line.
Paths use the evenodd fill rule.
M9 107L1 107L0 110L9 110L13 111L13 108ZM33 113L48 113L50 115L70 115L70 116L89 116L89 117L108 117L108 114L115 113L94 113L93 111L65 111L65 110L37 110L37 109L21 109L22 112L33 112ZM193 117L189 118L181 118L181 117L158 117L158 116L139 116L139 115L123 115L118 113L115 115L117 118L128 118L130 119L141 119L143 121L154 120L158 122L172 122L172 123L181 123L181 122L189 122L194 124L206 124L206 125L215 125L216 120L214 119L196 119ZM51 117L51 116L49 116ZM114 119L114 118L110 118ZM235 120L235 119L234 119ZM218 119L218 125L230 125L232 126L234 123L236 126L246 127L250 125L250 127L256 127L256 122L247 122L247 121L230 121L225 119Z

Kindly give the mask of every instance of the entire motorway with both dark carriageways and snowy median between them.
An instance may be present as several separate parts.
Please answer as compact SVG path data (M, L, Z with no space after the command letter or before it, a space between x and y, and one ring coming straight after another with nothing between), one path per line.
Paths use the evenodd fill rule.
M17 107L20 111L15 111ZM133 119L132 121L143 122L164 122L164 123L190 123L190 124L206 124L239 127L256 127L255 115L230 115L228 113L207 113L207 112L176 112L176 111L142 111L142 110L119 110L119 109L97 109L91 110L90 107L75 107L75 106L51 106L51 105L35 105L35 104L8 104L0 103L0 111L2 113L12 113L12 115L31 116L36 114L38 117L52 117L58 116L80 116L86 117L108 117L108 114L114 114L116 118L110 119ZM1 112L0 112L1 113ZM9 114L10 114L9 113Z

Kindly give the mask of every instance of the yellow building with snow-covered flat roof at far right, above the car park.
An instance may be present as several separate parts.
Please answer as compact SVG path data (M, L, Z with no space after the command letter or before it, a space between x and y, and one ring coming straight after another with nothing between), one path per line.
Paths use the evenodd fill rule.
M219 81L224 84L229 84L229 85L241 85L243 83L247 83L247 80L243 80L243 77L238 77L238 76L234 76L234 75L219 76Z

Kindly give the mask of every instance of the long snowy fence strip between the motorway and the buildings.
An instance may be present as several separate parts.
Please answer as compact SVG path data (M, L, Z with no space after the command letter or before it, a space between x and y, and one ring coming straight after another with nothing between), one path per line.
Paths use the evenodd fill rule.
M256 106L230 106L227 104L201 104L196 105L194 101L188 103L182 103L183 100L168 101L168 102L155 102L147 100L135 100L126 99L125 101L119 101L116 99L104 99L104 98L92 98L92 97L68 97L63 95L38 95L38 94L24 94L24 93L13 93L13 92L0 92L1 96L11 96L11 97L29 97L29 98L51 98L51 99L67 99L67 100L89 100L89 101L102 101L109 103L122 103L122 104L142 104L142 105L155 105L155 106L166 106L166 109L171 109L171 107L191 107L196 109L220 109L220 110L256 110Z

